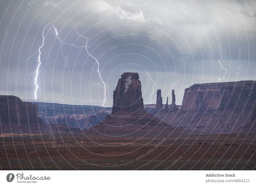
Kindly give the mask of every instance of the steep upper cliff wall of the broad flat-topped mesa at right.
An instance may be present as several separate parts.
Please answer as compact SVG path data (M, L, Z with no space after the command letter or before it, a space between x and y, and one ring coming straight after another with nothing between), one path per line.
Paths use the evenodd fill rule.
M185 89L181 111L196 111L199 107L200 111L213 111L216 107L218 110L241 109L247 97L250 101L246 107L252 108L252 100L256 98L254 90L252 81L195 84Z

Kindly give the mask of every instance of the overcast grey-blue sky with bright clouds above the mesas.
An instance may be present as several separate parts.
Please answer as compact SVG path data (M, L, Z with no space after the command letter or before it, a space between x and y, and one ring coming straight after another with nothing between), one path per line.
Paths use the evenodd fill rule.
M104 82L109 106L121 74L138 72L144 104L153 89L151 103L157 89L163 102L174 89L181 105L184 89L195 83L255 75L255 0L2 0L0 9L0 95L35 99L40 46L38 100L100 105ZM84 37L90 55L70 45L85 46Z

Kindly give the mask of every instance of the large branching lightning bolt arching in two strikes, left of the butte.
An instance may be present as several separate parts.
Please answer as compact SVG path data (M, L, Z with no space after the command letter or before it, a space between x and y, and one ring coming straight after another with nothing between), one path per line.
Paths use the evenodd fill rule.
M89 40L87 37L84 37L84 36L78 34L78 33L77 33L77 30L76 30L76 33L77 33L79 36L81 36L81 37L83 37L83 38L86 39L86 44L85 44L84 46L76 46L75 44L68 44L68 43L62 41L62 40L59 38L58 31L57 31L57 29L55 28L55 26L54 26L52 23L48 23L48 24L44 27L44 29L43 29L43 34L42 34L43 41L42 41L42 45L38 48L38 50L37 50L34 54L32 54L32 55L31 55L29 58L27 58L23 63L21 63L21 65L24 64L27 60L29 60L31 57L33 57L34 55L36 55L36 54L38 53L37 64L36 64L36 70L35 70L35 72L32 73L32 74L36 74L35 79L34 79L34 83L35 83L35 87L36 87L36 88L35 88L35 93L34 93L35 100L36 100L36 98L37 98L37 97L36 97L37 90L38 90L38 89L40 90L40 88L39 88L39 86L38 86L38 84L37 84L37 81L38 81L38 74L39 74L39 73L42 73L42 75L43 75L43 77L44 77L44 74L43 74L43 72L42 72L41 48L44 46L44 39L45 39L45 38L44 38L44 30L45 30L45 28L47 28L49 25L51 25L51 26L54 28L54 31L55 31L55 34L56 34L56 38L57 38L57 39L59 40L59 42L60 42L60 46L61 46L61 48L60 48L60 49L61 49L61 55L62 55L62 57L65 59L65 62L67 62L67 67L68 67L68 70L69 70L69 71L70 71L70 69L69 69L69 66L68 66L68 58L70 58L70 56L68 55L68 52L63 48L63 44L66 44L66 45L72 46L72 47L74 46L74 47L76 47L76 48L79 48L79 47L85 48L87 54L88 54L89 56L91 56L92 58L94 58L94 57L88 52L88 50L87 50L87 47L88 47L88 46L87 46L87 42L88 42L88 40ZM98 39L100 39L100 37L99 37ZM98 39L96 39L92 45L94 45ZM92 47L92 45L89 46L88 48ZM65 56L64 52L66 53L66 56ZM96 58L94 58L94 59L95 59L96 62L98 63L98 73L99 73L99 76L100 76L100 71L99 71L99 66L100 66L100 64L99 64L99 62L97 61ZM45 72L45 71L44 71L44 72ZM32 74L30 74L30 75L28 76L28 78L29 78ZM104 81L102 80L101 76L100 76L100 79L101 79L101 81L102 81L103 84L104 84L104 95L105 95L105 99L104 99L103 104L102 104L102 105L104 106L104 103L105 103L105 100L106 100L106 86L105 86L105 83L104 83Z

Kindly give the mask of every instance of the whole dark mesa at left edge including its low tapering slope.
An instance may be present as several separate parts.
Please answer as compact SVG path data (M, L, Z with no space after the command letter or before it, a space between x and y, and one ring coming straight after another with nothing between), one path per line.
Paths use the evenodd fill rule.
M22 101L16 96L0 96L0 134L63 134L77 133L81 130L63 125L49 125L42 123L37 115L36 103Z

